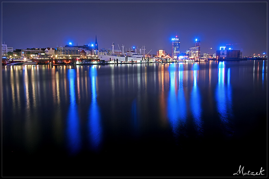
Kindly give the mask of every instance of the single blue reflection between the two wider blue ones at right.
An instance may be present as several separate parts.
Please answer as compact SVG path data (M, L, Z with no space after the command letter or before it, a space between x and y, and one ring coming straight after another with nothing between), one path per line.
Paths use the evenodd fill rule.
M192 87L192 93L191 93L191 99L190 99L190 106L191 106L193 121L195 124L195 129L197 130L198 135L201 135L203 132L202 121L201 121L202 106L201 106L201 95L200 95L199 88L197 86L198 70L199 70L198 64L197 63L193 64L192 66L193 87Z

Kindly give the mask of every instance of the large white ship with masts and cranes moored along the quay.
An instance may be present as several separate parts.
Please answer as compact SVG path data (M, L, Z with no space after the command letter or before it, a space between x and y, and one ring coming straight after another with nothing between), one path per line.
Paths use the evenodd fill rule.
M140 50L140 53L133 50L129 50L126 53L124 53L124 45L122 46L122 54L123 55L115 55L114 54L114 42L112 43L112 54L98 54L97 56L100 58L100 61L109 61L110 63L114 62L142 62L145 60L145 46L142 48L144 50L144 53L142 54L142 50ZM151 51L151 50L150 50ZM149 51L149 52L150 52Z

